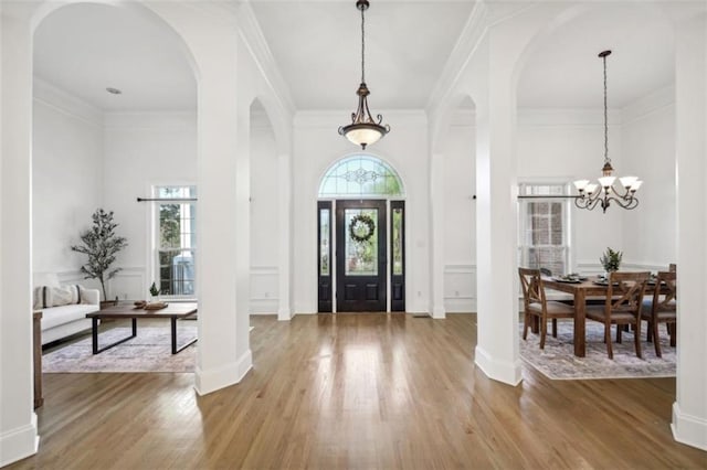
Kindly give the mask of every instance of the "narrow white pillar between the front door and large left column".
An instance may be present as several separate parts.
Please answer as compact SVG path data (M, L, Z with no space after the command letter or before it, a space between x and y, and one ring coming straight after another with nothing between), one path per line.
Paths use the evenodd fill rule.
M277 320L292 319L291 307L291 263L292 263L292 157L277 157L278 204L277 204Z

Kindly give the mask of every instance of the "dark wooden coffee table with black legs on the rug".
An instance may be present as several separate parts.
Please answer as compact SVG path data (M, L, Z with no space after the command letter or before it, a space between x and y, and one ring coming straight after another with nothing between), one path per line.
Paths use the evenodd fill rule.
M135 307L133 303L118 303L115 307L108 307L97 312L86 313L86 318L92 320L91 335L93 341L93 353L98 354L105 350L124 343L137 335L137 319L138 318L168 318L171 323L171 340L172 340L172 354L177 354L179 351L197 342L197 338L187 341L184 344L177 346L177 320L184 319L197 314L196 302L172 302L167 307L159 310L146 310L140 307ZM114 343L98 348L98 321L103 319L130 319L133 320L133 334L123 338Z

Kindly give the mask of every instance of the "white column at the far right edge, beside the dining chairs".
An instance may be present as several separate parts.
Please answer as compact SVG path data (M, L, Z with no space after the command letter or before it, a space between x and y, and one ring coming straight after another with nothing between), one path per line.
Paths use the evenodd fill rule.
M677 441L707 450L707 19L703 14L676 32L678 322L672 428Z

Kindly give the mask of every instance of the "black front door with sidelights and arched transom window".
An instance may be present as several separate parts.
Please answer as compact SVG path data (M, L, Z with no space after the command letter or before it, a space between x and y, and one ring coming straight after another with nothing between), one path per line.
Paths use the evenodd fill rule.
M346 157L324 174L318 196L318 311L404 311L404 186L395 170L371 154Z

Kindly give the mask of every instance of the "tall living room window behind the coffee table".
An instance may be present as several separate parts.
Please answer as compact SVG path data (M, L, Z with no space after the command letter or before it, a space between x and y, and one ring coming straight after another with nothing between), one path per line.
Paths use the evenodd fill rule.
M157 285L162 296L189 296L194 290L197 252L196 186L156 186Z

